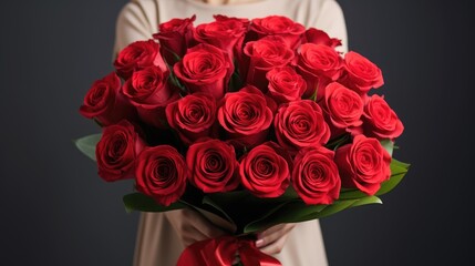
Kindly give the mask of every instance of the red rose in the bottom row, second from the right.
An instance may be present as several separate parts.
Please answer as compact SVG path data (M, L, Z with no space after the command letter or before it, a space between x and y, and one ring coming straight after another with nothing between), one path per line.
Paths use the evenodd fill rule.
M292 185L307 204L331 204L340 195L341 181L334 153L323 146L301 150L295 160Z

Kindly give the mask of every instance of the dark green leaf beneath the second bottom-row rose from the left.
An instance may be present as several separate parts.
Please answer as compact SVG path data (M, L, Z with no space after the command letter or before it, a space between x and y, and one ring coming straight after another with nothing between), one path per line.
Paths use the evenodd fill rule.
M133 211L161 213L187 206L179 201L172 203L169 206L163 206L156 203L152 197L142 193L127 194L124 196L123 201L127 213L132 213Z

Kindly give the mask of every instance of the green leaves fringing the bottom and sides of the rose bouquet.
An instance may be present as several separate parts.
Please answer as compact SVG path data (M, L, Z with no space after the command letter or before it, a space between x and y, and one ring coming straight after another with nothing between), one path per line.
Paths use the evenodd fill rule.
M87 157L95 161L95 146L101 134L93 134L75 141L76 147ZM335 143L348 141L344 136ZM393 142L382 141L383 147L392 155ZM333 145L335 146L335 145ZM194 187L188 187L184 197L169 206L157 204L152 197L143 193L131 193L123 197L125 209L130 213L167 212L185 207L194 208L205 215L211 213L228 222L233 233L248 234L260 232L281 223L298 223L322 218L343 209L368 204L382 204L379 196L391 192L403 180L410 164L391 160L391 177L381 184L381 188L373 196L368 196L357 188L342 188L339 198L332 204L307 205L289 186L286 193L276 198L256 197L248 191L204 194Z

